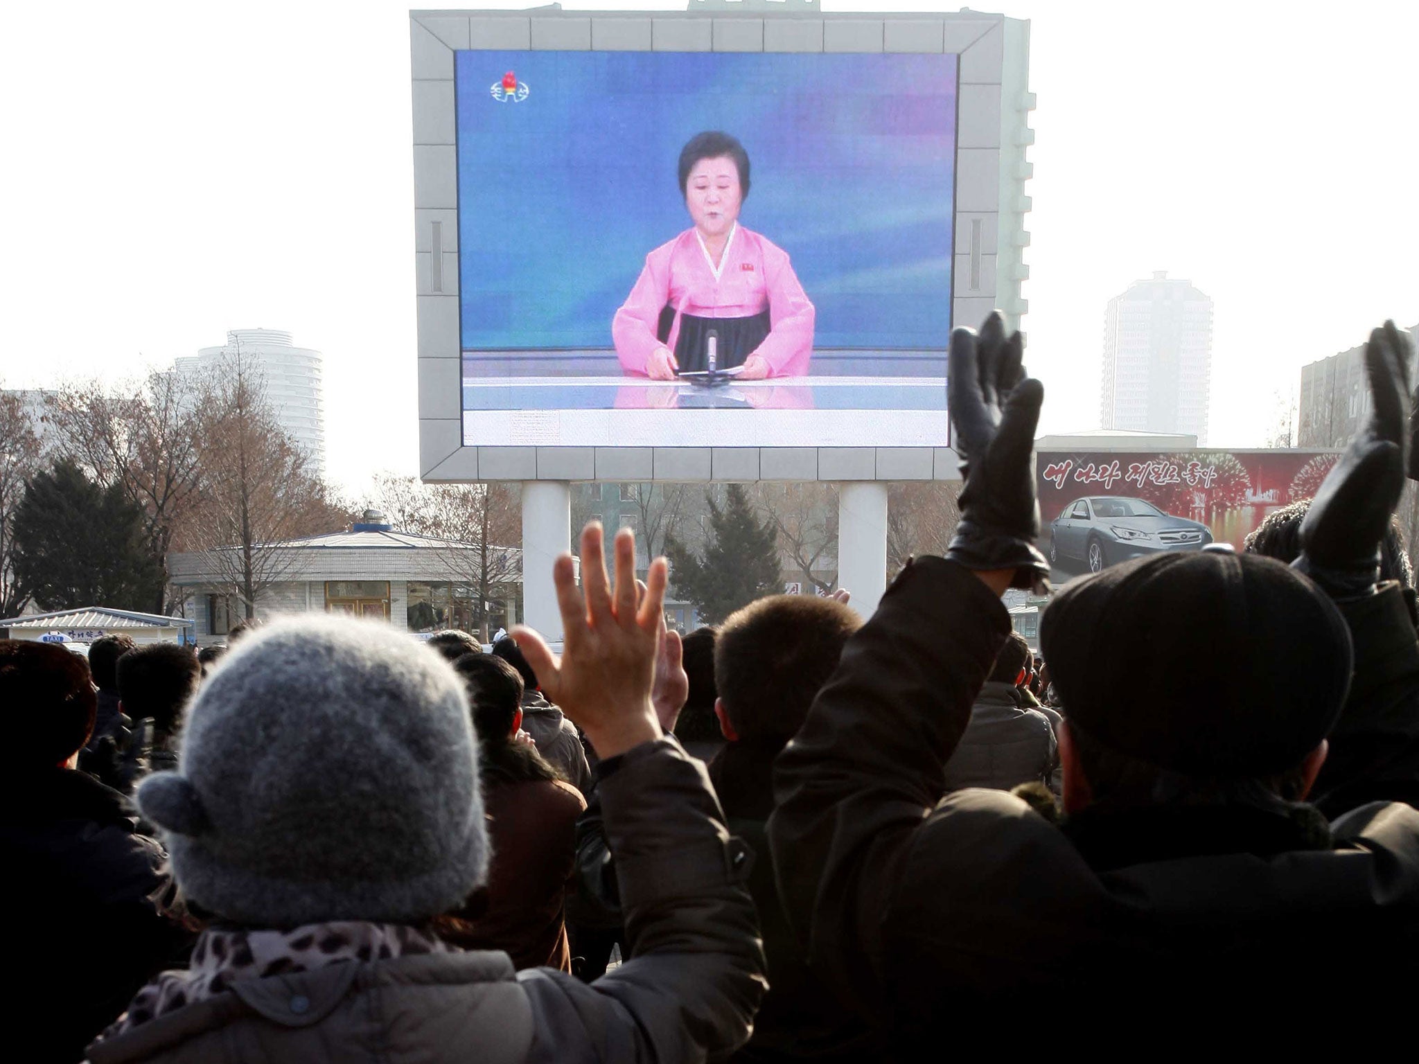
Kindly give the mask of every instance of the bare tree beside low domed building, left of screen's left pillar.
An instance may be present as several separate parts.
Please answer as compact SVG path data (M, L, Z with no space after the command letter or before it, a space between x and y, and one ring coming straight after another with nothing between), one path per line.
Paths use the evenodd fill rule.
M488 641L497 596L521 579L522 505L511 484L423 484L380 474L375 505L404 532L434 539L430 549L451 583L465 589L473 623Z

